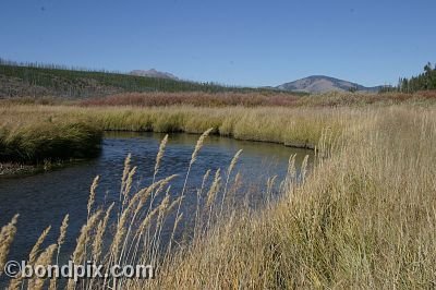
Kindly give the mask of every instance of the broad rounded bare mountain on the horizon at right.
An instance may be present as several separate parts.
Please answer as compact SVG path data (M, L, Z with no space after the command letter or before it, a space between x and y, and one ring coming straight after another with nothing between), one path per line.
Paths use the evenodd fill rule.
M356 83L326 76L311 75L290 83L284 83L276 88L290 92L325 93L330 90L349 92L378 92L380 86L366 87Z

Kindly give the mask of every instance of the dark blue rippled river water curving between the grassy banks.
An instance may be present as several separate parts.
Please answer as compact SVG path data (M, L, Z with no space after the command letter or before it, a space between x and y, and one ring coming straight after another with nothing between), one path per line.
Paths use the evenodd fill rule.
M71 254L80 228L86 219L86 204L93 179L100 176L98 205L118 201L123 162L131 153L132 165L137 166L133 190L149 184L156 154L164 136L157 133L108 133L101 155L96 159L69 165L55 171L0 179L0 226L9 222L14 214L20 214L17 233L9 259L25 259L39 234L49 225L52 229L47 242L56 241L65 214L70 214L70 222L62 252ZM174 196L183 186L184 174L197 138L198 135L190 134L169 136L157 178L180 174L171 183L171 194ZM266 189L268 177L284 177L290 155L298 154L299 166L305 155L312 155L310 150L278 144L209 136L192 167L182 208L185 214L193 213L192 209L196 206L195 189L199 188L206 170L211 169L211 176L218 168L226 172L239 149L243 149L243 153L233 172L241 172L244 185L237 201L242 203L249 196L250 205L264 198L263 191L258 189Z

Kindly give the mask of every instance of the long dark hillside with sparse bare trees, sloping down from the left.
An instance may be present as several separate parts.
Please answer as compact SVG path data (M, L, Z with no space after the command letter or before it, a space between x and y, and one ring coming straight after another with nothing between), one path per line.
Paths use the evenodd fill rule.
M59 65L16 64L0 60L0 98L57 96L87 98L130 92L265 92L164 77L105 71L74 70Z

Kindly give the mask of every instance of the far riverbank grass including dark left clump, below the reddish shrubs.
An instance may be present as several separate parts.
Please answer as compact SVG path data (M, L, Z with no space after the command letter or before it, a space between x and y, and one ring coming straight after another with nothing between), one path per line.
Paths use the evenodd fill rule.
M76 107L10 104L0 109L0 162L40 167L98 154L104 131L183 132L319 149L361 110L277 107ZM14 167L19 171L21 167ZM14 170L8 170L14 172Z

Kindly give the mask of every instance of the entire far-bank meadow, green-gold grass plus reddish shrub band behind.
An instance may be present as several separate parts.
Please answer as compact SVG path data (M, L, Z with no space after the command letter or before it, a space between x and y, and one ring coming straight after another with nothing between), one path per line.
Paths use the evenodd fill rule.
M392 105L427 107L434 92L318 96L242 93L126 93L85 100L12 98L0 105L0 161L40 164L95 156L102 131L213 134L314 148L336 137L359 111Z

